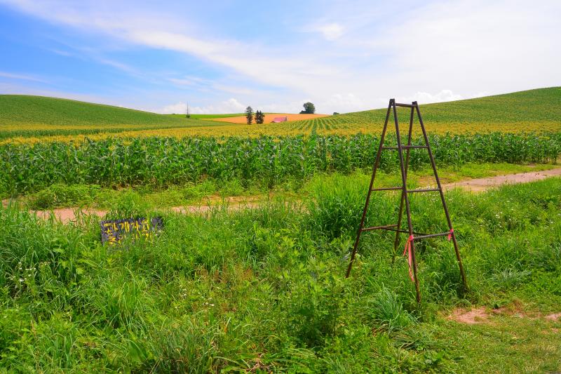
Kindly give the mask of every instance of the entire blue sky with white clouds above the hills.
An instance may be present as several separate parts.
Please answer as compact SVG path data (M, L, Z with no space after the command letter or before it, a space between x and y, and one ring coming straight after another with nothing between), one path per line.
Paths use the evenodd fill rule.
M318 112L561 86L561 1L0 0L0 93Z

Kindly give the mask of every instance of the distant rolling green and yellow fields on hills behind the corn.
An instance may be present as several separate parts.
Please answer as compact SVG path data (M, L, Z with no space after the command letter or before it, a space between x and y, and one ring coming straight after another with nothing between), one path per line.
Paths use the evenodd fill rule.
M405 108L400 108L405 109ZM400 110L405 122L407 110ZM0 142L101 140L112 136L294 136L379 134L386 109L325 118L243 125L185 119L107 105L35 96L0 95ZM550 133L561 131L561 88L540 88L471 100L421 105L431 133ZM231 114L219 114L218 116ZM204 115L201 118L208 118ZM219 127L217 127L219 126ZM417 131L418 133L418 131Z

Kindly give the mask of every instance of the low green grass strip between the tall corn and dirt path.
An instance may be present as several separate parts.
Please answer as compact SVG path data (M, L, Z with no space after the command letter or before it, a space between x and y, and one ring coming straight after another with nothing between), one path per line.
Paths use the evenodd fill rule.
M485 178L494 175L525 173L529 171L548 170L558 167L546 163L538 165L518 165L514 163L467 163L465 165L440 168L438 174L442 183L457 182L470 178ZM346 176L348 182L360 182L370 177L370 171L355 171ZM220 182L219 180L207 179L204 182L194 184L171 186L168 188L157 188L153 186L125 187L122 189L104 188L99 185L50 185L41 191L27 196L13 199L29 209L44 210L51 208L75 208L90 207L109 210L111 207L126 199L142 201L148 208L168 208L174 206L198 206L219 205L234 197L235 203L244 204L264 203L272 196L275 199L286 201L302 201L311 196L318 184L330 183L338 180L342 175L339 173L320 173L314 175L310 180L302 181L289 179L274 189L267 185L259 184L257 181L250 185L244 185L241 180ZM398 171L393 173L377 173L376 185L378 187L393 187L401 182ZM412 170L407 175L412 186L425 187L434 184L432 169L421 168Z

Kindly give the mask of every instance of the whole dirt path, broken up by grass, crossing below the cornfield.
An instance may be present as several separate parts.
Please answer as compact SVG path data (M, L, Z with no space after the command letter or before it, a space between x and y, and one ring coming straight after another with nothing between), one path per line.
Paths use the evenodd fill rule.
M482 192L486 189L497 187L499 185L507 185L513 183L527 183L527 182L534 182L536 180L543 180L549 177L560 177L561 176L561 168L550 169L546 171L531 171L528 173L518 173L518 174L507 174L507 175L496 175L494 177L489 178L480 178L480 179L470 179L470 180L463 180L461 182L454 182L454 183L447 183L442 185L444 189L454 189L454 188L462 188L467 189L468 191L472 192ZM243 198L245 201L242 201L239 197L233 196L227 199L228 202L228 210L229 211L240 211L243 209L253 209L257 208L260 203L258 201L252 201L250 198ZM7 201L2 201L4 205L7 204ZM184 214L203 214L211 211L213 208L219 206L219 203L216 205L198 205L198 206L174 206L173 208L169 208L170 211L174 211L177 213L184 213ZM79 208L60 208L60 209L53 209L53 211L32 211L37 215L39 218L49 218L50 214L53 213L57 220L61 222L67 223L76 220L76 213L78 213ZM81 210L82 214L86 215L97 215L99 217L103 217L107 214L107 211L103 211L100 209L92 209L92 208L85 208Z

